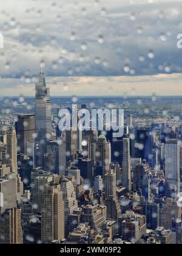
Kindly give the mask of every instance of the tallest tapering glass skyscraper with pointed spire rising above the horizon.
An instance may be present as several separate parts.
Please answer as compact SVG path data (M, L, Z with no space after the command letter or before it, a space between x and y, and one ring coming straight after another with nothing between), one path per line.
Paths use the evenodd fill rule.
M36 167L44 168L44 154L47 153L47 142L53 140L52 115L50 109L50 88L46 88L45 74L41 70L39 82L35 85L35 130Z

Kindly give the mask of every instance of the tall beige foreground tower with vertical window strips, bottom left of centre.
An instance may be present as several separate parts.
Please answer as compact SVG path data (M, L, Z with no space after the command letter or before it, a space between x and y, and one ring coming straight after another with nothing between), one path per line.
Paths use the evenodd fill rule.
M60 185L45 187L42 197L41 239L45 243L64 239L64 201Z

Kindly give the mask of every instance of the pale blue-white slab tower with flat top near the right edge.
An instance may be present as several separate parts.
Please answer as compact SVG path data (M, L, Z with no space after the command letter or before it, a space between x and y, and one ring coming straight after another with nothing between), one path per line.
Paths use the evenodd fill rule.
M168 190L180 193L180 144L167 140L165 144L165 177Z

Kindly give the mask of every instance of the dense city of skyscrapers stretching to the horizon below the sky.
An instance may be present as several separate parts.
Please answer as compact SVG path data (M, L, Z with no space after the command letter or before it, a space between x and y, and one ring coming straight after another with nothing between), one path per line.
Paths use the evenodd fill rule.
M0 99L0 244L182 244L182 98ZM59 110L124 109L124 135ZM104 126L106 128L106 124Z

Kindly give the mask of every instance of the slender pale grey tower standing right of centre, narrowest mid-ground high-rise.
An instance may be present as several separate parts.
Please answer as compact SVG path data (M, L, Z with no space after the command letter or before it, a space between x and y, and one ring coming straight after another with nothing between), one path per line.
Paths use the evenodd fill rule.
M122 185L129 191L132 188L129 138L123 138Z

